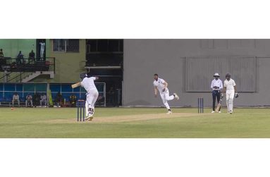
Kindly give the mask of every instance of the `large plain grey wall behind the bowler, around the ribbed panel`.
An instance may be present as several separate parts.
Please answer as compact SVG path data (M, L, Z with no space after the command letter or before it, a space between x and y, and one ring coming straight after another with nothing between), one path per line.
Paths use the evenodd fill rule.
M173 100L171 106L197 106L197 97L210 106L210 92L185 92L185 56L257 56L256 92L240 93L234 103L270 105L270 39L125 39L123 106L163 106L154 97L154 73L168 82L171 93L179 94L180 102Z

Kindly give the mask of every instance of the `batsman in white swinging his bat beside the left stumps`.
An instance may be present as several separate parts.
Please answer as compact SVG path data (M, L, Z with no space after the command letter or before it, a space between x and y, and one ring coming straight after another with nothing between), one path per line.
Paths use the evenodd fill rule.
M94 80L98 80L98 77L88 78L87 73L80 74L81 82L71 85L71 87L82 86L87 91L86 102L85 102L85 111L86 118L85 120L92 121L94 118L94 104L97 102L97 97L99 97L99 92L97 91L96 85L94 85Z

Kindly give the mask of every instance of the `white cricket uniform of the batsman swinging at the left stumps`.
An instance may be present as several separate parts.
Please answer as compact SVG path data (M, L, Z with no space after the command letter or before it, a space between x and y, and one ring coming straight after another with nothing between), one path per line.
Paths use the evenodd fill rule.
M96 80L95 77L84 78L80 83L87 91L85 102L86 117L89 116L89 114L94 115L94 104L97 102L97 97L99 97L99 92L97 91L96 85L94 85L94 80Z

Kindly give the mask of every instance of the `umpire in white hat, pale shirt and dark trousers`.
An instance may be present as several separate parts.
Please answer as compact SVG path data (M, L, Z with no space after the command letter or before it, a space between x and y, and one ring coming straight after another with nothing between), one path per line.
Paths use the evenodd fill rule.
M219 99L221 99L221 90L223 89L222 81L219 79L220 75L219 73L215 73L214 80L211 82L211 90L212 90L212 97L213 97L213 111L211 113L215 112L215 104L216 99L219 104ZM221 110L219 109L219 113L221 113Z

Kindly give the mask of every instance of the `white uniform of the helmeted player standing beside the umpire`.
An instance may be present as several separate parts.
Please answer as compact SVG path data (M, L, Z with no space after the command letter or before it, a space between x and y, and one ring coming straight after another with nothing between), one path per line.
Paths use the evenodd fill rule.
M233 79L224 80L224 87L226 87L226 104L228 112L233 112L233 98L234 98L235 81Z

